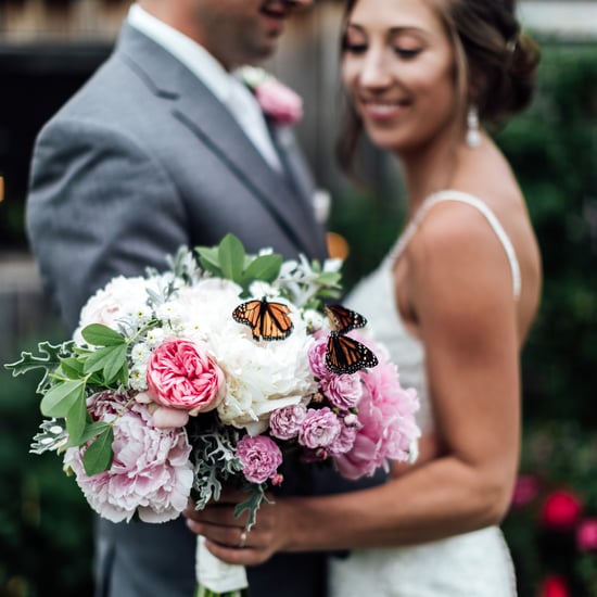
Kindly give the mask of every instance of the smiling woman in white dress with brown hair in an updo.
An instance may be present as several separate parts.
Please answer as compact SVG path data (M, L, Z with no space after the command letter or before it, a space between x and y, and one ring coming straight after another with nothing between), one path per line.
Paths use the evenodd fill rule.
M408 200L396 244L346 304L367 314L403 385L418 390L420 457L373 488L277 498L242 549L221 544L224 526L242 524L226 508L189 525L233 563L350 550L330 557L331 597L511 597L498 524L517 473L520 351L542 274L521 190L480 122L529 103L536 54L512 0L346 4L342 161L364 130L399 158Z

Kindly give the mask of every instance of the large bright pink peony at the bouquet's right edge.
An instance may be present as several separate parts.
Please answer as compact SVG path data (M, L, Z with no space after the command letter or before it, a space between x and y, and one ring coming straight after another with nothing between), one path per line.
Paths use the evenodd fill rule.
M359 374L364 393L358 420L363 427L356 432L353 448L334 457L340 473L347 479L370 477L378 467L389 470L389 459L407 460L420 435L415 420L417 393L401 386L396 366L380 359L379 365Z

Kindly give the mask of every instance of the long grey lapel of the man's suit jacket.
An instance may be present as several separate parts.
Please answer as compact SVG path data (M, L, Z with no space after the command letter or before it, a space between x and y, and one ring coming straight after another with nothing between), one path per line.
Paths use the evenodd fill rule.
M142 74L155 94L170 100L168 106L174 116L272 214L297 252L321 256L320 230L310 205L313 193L307 190L308 183L300 182L298 169L289 152L280 148L292 185L267 164L227 107L168 52L127 25L117 51Z

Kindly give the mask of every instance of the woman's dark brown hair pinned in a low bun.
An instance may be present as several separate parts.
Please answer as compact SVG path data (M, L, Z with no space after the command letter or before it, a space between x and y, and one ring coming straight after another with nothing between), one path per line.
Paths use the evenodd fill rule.
M357 1L346 0L343 31ZM539 51L521 31L516 0L425 1L436 11L452 41L461 114L474 104L483 122L498 125L526 107L535 90ZM351 172L363 123L352 105L345 112L338 157Z

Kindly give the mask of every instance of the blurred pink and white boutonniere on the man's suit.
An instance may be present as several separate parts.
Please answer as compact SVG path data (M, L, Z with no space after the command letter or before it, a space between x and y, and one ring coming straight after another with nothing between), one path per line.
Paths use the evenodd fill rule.
M294 125L303 117L303 99L274 75L255 66L242 66L237 76L257 98L267 116L283 125Z

